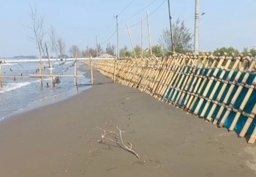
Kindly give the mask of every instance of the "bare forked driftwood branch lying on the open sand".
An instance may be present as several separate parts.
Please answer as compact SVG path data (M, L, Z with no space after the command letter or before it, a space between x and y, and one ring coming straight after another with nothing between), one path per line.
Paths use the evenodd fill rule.
M114 142L120 148L131 152L138 159L140 159L140 156L138 155L138 153L135 152L134 150L132 150L132 143L130 141L127 141L127 143L129 144L130 147L128 147L124 144L124 141L123 141L123 138L122 138L122 133L125 133L125 131L118 128L118 126L116 126L116 128L117 128L118 132L114 132L114 131L110 131L110 130L103 130L99 126L93 128L93 130L95 130L95 129L101 130L101 140L98 140L98 142L100 142L100 143L106 143L107 142L106 144L109 144L109 141Z

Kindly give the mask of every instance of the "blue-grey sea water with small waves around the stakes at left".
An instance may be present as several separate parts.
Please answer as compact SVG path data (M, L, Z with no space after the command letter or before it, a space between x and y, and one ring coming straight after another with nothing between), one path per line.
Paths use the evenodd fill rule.
M1 59L8 61L8 59ZM78 61L78 66L83 65ZM44 63L43 74L50 74L49 64ZM50 88L50 78L43 77L43 88L39 86L38 77L18 78L16 76L28 76L39 74L39 62L16 62L2 63L2 76L13 76L12 78L2 78L3 87L0 87L0 120L24 110L38 108L46 104L54 103L68 98L79 91L89 89L90 78L78 77L74 86L74 77L61 77L60 83ZM52 62L52 74L74 75L73 61L67 61L63 65ZM78 70L77 75L84 72ZM48 86L47 86L48 83Z

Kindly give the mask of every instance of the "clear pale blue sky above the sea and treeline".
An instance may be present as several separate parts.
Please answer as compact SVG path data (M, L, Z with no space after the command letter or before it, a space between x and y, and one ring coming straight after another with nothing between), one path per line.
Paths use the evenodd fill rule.
M172 22L178 18L194 34L195 0L170 0ZM37 6L44 17L44 31L53 26L66 44L79 49L96 46L106 49L108 42L117 43L116 19L119 23L119 47L131 49L126 22L130 27L133 45L141 44L141 18L149 24L152 45L159 44L163 29L170 28L167 0L1 0L0 6L0 57L14 55L39 55L36 45L30 41L33 31L28 27L30 6ZM243 50L256 44L255 0L201 0L199 51L213 51L233 46ZM113 35L114 34L114 35ZM44 40L50 42L48 35ZM193 39L194 43L194 39ZM149 47L147 20L143 21L143 46Z

